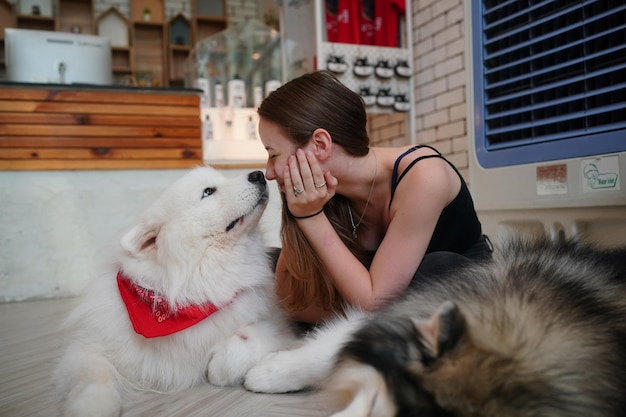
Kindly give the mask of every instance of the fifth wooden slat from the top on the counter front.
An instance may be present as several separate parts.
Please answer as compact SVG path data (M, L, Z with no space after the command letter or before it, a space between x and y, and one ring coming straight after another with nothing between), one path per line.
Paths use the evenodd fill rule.
M200 143L199 138L0 136L0 153L3 152L3 148L195 148Z

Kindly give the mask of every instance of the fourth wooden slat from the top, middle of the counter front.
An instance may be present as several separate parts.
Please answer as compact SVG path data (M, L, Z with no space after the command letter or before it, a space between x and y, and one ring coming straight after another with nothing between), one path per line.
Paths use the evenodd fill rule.
M1 136L197 137L200 127L0 125Z

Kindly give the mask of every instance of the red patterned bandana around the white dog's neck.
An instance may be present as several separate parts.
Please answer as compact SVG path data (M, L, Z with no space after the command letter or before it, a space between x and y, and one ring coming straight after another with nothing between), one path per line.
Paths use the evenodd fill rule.
M122 271L117 273L117 286L133 329L147 338L185 330L219 310L211 303L172 308L165 298L133 283Z

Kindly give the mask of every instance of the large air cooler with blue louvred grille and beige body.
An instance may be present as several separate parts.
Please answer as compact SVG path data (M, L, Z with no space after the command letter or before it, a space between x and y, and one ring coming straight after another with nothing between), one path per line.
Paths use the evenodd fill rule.
M485 231L626 244L626 4L472 0L465 22Z

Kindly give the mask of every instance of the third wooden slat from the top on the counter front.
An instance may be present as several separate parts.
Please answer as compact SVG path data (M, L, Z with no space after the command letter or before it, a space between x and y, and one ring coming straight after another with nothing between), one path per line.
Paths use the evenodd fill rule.
M106 125L106 126L181 126L199 127L201 120L196 116L159 116L127 114L89 114L89 113L18 113L0 112L0 125Z

